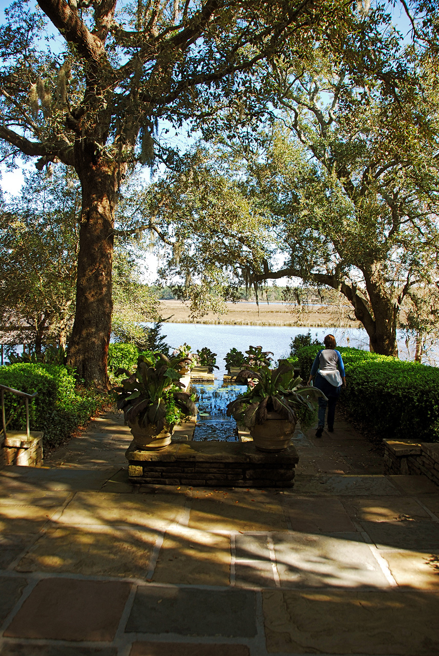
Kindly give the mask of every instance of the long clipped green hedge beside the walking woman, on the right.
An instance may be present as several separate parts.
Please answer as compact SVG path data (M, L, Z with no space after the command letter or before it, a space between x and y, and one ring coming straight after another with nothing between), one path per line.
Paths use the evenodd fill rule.
M298 354L307 380L316 354L308 346ZM347 411L382 438L439 441L439 369L356 348L337 348L346 370L341 401Z

